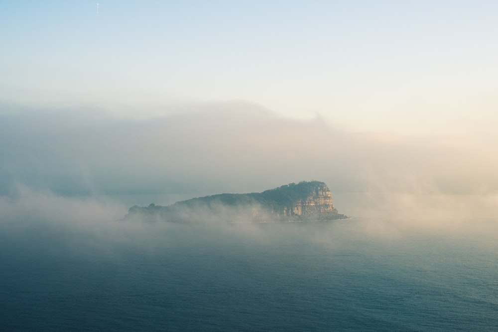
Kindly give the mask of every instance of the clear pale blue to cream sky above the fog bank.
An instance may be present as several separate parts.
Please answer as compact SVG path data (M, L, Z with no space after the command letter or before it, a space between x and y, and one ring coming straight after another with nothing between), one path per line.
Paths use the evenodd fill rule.
M243 100L399 133L498 120L497 1L98 2L0 1L1 103Z

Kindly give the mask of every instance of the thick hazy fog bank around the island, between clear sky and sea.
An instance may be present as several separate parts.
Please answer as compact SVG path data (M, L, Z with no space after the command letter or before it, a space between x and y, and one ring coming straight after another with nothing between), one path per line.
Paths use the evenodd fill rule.
M90 232L179 227L120 220L133 205L303 180L327 183L358 232L467 229L497 216L491 134L349 132L320 116L282 118L238 102L180 111L141 120L91 110L1 113L1 222L57 221ZM220 211L205 224L265 236L261 225L211 222L235 215Z

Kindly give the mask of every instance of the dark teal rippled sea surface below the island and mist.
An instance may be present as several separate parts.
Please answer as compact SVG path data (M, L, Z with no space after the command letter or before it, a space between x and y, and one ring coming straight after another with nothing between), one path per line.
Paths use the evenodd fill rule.
M1 331L497 331L495 221L5 221Z

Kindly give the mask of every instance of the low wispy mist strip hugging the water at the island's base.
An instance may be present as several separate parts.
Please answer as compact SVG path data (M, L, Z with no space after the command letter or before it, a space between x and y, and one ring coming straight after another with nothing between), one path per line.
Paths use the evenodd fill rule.
M62 197L23 189L0 200L0 228L8 241L40 250L84 255L122 256L126 250L157 254L170 247L218 243L270 245L292 241L335 248L347 242L399 241L413 234L493 239L498 233L497 197L463 195L338 195L341 211L352 216L335 221L255 222L237 208L183 211L182 221L123 219L128 207L109 196ZM339 203L340 202L340 203ZM482 211L481 214L478 214ZM484 213L486 212L486 213ZM189 220L189 222L185 222ZM348 244L349 245L349 244ZM50 249L52 248L52 249ZM86 253L85 253L86 252ZM128 251L126 251L128 252ZM63 253L60 253L63 254ZM123 258L123 257L122 257Z

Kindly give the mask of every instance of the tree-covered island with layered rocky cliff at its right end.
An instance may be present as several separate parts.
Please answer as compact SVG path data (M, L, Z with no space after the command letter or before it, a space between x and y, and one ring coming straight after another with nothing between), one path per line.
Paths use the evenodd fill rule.
M218 194L176 202L169 206L133 206L125 219L164 221L318 221L346 219L332 204L323 182L302 181L261 193Z

